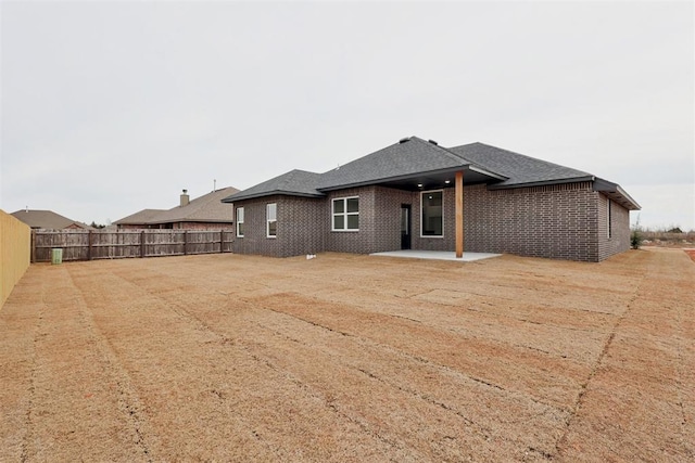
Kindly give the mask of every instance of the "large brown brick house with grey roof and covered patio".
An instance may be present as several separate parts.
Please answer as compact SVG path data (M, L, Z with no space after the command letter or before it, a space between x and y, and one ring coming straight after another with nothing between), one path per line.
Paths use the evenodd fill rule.
M325 173L292 170L223 200L235 252L294 256L396 249L599 261L630 247L618 184L482 143L417 137Z

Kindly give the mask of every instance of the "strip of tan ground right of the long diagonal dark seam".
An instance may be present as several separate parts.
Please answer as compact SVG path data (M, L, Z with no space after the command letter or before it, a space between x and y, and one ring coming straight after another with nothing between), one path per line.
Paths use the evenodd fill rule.
M633 267L641 269L641 279L557 441L559 460L591 459L606 452L626 460L695 458L695 434L684 399L693 390L692 377L685 378L684 352L688 344L691 357L695 349L683 320L687 310L687 325L693 326L695 273L666 253L633 253L637 259ZM585 437L595 429L602 434L586 442ZM642 438L636 440L635 434Z

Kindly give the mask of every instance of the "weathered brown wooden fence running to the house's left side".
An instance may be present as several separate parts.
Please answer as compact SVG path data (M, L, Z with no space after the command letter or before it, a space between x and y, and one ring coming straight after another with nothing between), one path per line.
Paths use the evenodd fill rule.
M54 248L63 260L122 259L231 253L228 230L34 230L31 261L50 262Z

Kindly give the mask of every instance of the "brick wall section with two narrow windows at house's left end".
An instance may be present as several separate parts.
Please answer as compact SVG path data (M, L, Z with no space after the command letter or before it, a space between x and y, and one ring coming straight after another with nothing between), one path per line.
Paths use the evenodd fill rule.
M266 236L266 205L277 204L277 236ZM326 201L299 196L268 196L240 201L244 208L244 236L235 237L238 254L273 257L316 254L326 249ZM236 214L236 211L235 211Z

